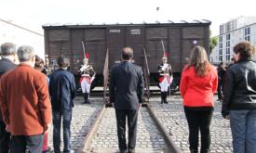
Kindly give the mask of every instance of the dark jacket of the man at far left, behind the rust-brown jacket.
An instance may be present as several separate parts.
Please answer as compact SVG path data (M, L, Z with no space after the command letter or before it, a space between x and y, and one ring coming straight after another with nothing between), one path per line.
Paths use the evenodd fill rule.
M16 68L16 64L14 64L10 59L3 57L0 59L0 78L1 75L5 74L8 70L13 70ZM2 121L2 113L0 111L0 121Z

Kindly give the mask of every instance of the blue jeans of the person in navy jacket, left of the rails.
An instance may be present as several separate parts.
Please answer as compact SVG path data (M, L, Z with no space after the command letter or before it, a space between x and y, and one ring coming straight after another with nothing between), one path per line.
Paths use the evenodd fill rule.
M53 147L55 153L61 153L61 116L63 125L63 142L64 142L64 153L71 151L71 132L70 125L72 120L72 109L61 110L52 112L53 115Z

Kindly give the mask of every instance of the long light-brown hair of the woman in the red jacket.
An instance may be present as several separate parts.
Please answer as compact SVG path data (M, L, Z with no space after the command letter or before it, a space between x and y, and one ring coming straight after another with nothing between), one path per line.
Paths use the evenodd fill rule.
M195 67L196 75L204 77L209 70L209 60L206 49L203 46L196 45L190 53L188 67Z

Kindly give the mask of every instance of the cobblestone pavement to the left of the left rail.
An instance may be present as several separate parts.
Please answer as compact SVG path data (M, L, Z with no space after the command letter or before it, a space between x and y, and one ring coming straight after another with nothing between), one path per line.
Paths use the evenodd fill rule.
M95 121L103 104L102 97L91 97L90 99L90 105L82 104L82 96L77 96L74 99L73 117L71 122L71 147L74 151L84 142L89 127ZM53 149L52 132L53 126L51 126L48 134L48 146L51 147L51 150ZM63 147L62 135L63 133L61 130L61 147Z

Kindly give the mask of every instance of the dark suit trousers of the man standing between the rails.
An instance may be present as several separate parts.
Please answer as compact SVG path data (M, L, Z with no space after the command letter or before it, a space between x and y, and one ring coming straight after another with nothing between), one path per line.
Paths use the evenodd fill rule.
M135 148L136 134L137 134L137 121L138 109L115 109L115 116L117 122L117 134L119 149L125 150L127 148ZM126 142L126 121L128 118L128 147Z

